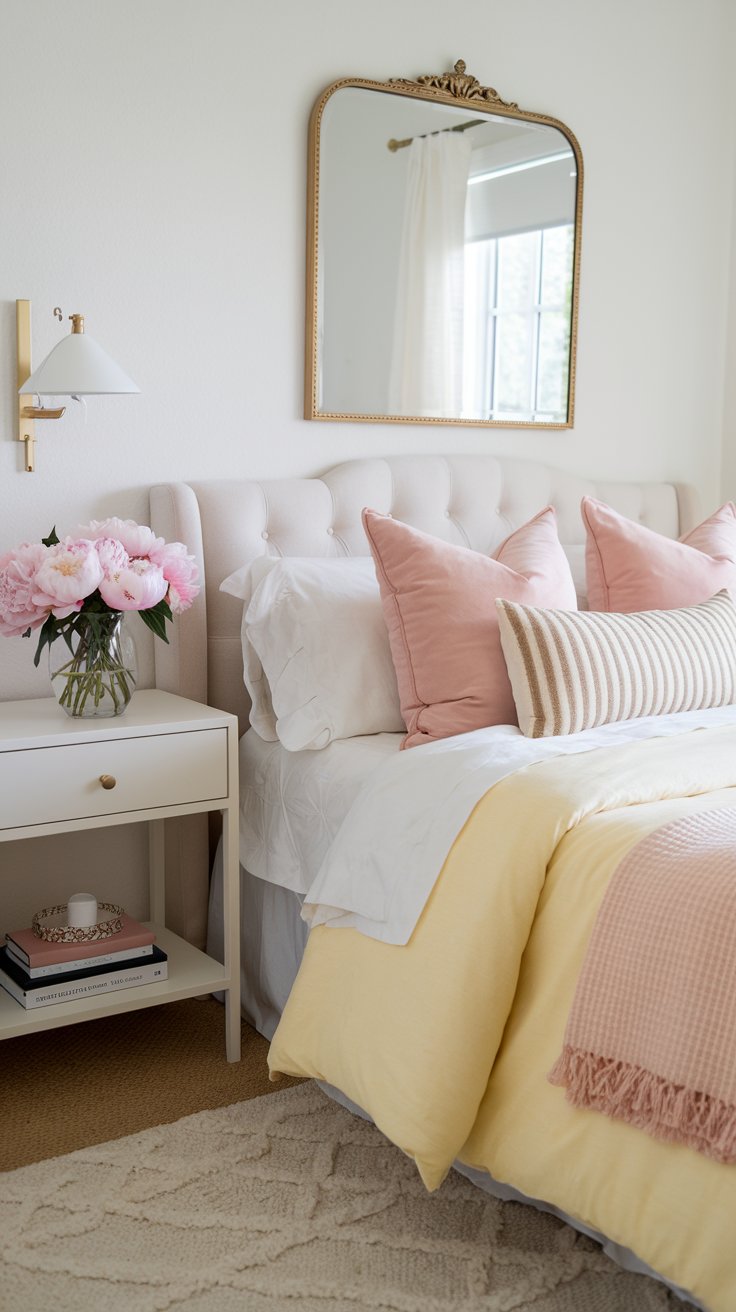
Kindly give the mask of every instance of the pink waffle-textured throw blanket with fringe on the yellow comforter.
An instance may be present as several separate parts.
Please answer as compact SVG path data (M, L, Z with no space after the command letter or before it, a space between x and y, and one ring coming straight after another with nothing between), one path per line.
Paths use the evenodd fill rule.
M548 1078L736 1161L736 808L663 825L621 862Z

